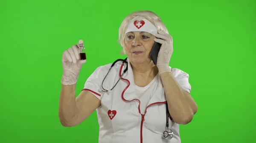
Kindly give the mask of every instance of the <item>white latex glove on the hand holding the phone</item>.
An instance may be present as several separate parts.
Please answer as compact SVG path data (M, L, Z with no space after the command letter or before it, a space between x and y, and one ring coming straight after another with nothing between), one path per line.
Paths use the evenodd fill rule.
M156 34L155 36L160 39L154 39L154 41L162 44L157 57L158 71L160 74L164 72L172 73L172 70L169 67L170 59L173 52L172 36L164 33L163 31L158 31L158 34Z

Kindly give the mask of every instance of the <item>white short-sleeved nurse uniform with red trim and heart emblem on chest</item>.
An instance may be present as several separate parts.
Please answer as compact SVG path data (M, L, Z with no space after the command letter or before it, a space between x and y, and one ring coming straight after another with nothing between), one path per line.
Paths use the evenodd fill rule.
M111 64L98 67L87 79L83 90L90 91L101 106L96 109L99 122L99 143L180 143L179 124L169 118L174 136L163 137L166 130L166 98L160 75L145 87L134 84L133 71L128 62L128 71L118 84L116 81L125 70L126 64L117 62L108 73ZM171 67L170 67L171 68ZM103 87L113 90L102 92L101 83L108 73ZM190 93L189 75L172 68L180 86Z

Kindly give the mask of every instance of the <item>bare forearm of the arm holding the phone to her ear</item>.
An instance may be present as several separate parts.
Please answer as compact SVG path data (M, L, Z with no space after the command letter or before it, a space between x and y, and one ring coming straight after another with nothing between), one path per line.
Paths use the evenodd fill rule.
M197 105L189 93L183 90L172 73L162 73L161 79L166 93L168 109L175 123L187 124L197 110Z

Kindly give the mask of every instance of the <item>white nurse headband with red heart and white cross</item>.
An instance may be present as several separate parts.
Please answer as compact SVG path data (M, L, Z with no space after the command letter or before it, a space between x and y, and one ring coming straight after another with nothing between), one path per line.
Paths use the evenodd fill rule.
M125 31L125 34L127 34L128 32L134 32L134 31L148 32L154 36L155 34L157 34L157 28L145 18L143 20L132 21L128 25L128 28Z

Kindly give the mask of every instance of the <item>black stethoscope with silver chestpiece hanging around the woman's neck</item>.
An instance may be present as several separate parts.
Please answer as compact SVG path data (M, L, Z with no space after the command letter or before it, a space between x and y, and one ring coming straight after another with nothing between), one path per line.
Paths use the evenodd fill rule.
M108 73L110 72L110 70L112 69L112 67L116 64L116 62L119 62L119 61L122 61L126 64L126 67L125 67L125 70L124 72L122 73L122 75L120 76L120 78L118 79L118 81L122 78L122 76L127 72L128 70L128 62L127 62L127 58L125 59L117 59L115 62L113 62L113 64L111 65L111 67L109 68L108 70ZM108 75L107 73L107 75ZM113 90L113 88L116 86L116 84L118 83L118 81L116 81L116 84L110 89L110 90L106 90L104 89L103 87L103 82L104 80L106 79L107 75L105 76L105 78L103 79L102 81L102 84L101 84L101 87L102 87L102 91L107 93L108 91L110 90ZM173 132L172 132L172 129L169 128L169 110L168 110L168 104L166 102L166 131L163 132L163 137L165 137L167 140L171 140L172 137L173 137Z

